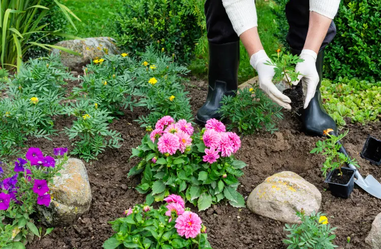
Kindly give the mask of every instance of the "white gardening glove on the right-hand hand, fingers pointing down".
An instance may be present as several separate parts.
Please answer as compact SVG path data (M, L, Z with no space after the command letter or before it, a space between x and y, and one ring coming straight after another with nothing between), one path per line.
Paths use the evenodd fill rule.
M317 54L309 49L303 49L299 56L304 61L298 62L295 66L295 72L299 72L298 80L294 81L294 85L298 85L302 81L304 100L304 109L307 108L309 101L315 95L317 84L319 84L319 74L316 70Z

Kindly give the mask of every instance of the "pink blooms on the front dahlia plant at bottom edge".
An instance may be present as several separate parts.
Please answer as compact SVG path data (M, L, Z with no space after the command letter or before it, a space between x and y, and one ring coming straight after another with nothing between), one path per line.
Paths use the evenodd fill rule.
M176 225L177 233L180 236L185 236L185 238L196 238L197 235L201 233L202 221L200 217L194 212L185 211L184 200L178 195L169 195L164 199L168 204L168 211L166 216L171 217L169 222L172 221L172 215L176 215Z

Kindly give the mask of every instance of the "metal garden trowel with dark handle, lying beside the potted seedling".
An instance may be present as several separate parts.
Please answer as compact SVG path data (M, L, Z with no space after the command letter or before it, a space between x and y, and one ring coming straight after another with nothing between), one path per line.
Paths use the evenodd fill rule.
M334 135L334 136L337 136L337 134L334 132L334 131L330 131L328 132L330 135ZM340 149L339 149L339 152L344 154L345 156L348 157L348 152L345 150L344 146L342 145L342 143L340 141L337 142L337 144L341 145ZM365 190L366 192L368 192L369 194L373 195L374 197L377 197L378 199L381 199L381 183L379 183L374 177L373 175L368 175L366 176L366 178L364 179L362 177L362 175L360 174L359 170L357 169L357 167L355 167L354 165L352 164L348 164L348 167L352 168L352 169L356 169L356 172L355 172L355 183L360 187L362 188L363 190Z

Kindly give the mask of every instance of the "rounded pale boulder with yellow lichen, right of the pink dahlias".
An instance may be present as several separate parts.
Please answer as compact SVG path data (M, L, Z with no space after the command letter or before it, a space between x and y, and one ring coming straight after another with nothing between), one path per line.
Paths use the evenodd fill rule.
M255 214L285 223L300 223L296 211L303 208L310 214L317 212L321 204L319 190L290 171L267 177L247 198L247 207Z

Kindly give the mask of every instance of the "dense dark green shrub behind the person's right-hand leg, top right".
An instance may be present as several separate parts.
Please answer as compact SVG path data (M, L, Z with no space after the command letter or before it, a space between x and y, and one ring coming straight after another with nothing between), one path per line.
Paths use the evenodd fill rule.
M275 10L279 30L277 37L287 46L288 31L284 7L287 0L276 0ZM381 80L379 47L381 35L374 27L381 25L380 0L344 0L334 21L337 35L325 52L324 77L338 80L340 77L360 78L368 81Z

